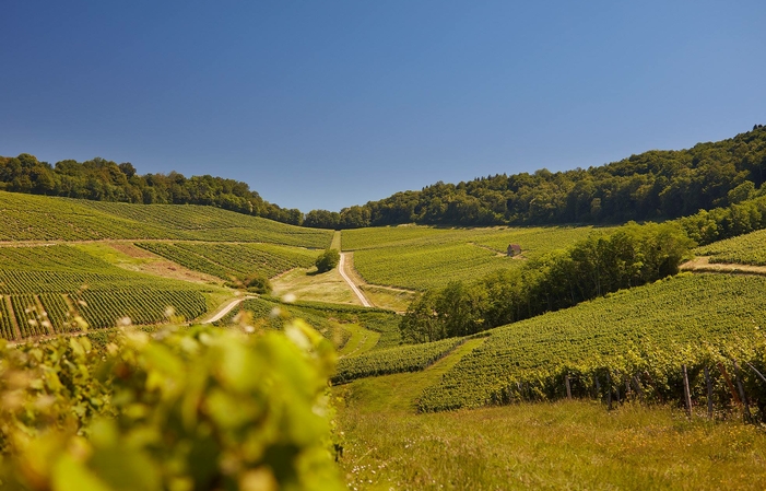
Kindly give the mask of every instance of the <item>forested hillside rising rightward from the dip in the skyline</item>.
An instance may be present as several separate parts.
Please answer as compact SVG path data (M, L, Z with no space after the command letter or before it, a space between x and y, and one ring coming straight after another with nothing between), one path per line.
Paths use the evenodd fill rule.
M351 207L314 210L305 224L360 227L401 223L542 225L685 217L740 202L766 179L766 127L687 150L651 150L566 172L498 174Z

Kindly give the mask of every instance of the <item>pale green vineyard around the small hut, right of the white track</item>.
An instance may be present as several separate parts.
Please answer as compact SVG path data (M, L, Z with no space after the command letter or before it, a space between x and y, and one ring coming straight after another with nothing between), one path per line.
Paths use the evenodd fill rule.
M523 257L533 258L609 230L398 226L343 231L342 243L344 250L355 250L354 266L369 283L425 290L518 267L519 261L505 257L511 243L521 245Z

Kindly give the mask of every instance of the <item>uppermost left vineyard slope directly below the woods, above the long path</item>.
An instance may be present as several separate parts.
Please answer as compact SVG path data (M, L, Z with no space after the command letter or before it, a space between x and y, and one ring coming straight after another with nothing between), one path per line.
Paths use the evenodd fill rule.
M0 241L166 238L326 248L332 231L212 207L128 204L0 191Z

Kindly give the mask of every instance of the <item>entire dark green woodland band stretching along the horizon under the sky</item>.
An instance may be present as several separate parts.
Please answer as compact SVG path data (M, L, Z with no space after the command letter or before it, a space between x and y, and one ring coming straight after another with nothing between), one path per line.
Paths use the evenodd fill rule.
M135 173L130 163L101 157L50 165L30 154L0 157L0 189L101 201L210 204L280 222L321 229L420 223L542 225L624 223L686 217L728 207L762 192L766 127L688 150L651 150L587 169L499 174L436 183L340 212L305 215L264 201L246 183L210 175Z

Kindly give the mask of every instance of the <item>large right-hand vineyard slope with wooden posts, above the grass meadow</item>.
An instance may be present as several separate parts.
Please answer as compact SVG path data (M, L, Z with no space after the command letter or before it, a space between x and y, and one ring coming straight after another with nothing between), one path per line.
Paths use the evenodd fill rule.
M615 388L641 374L640 384L650 387L647 394L680 400L683 363L694 365L696 375L712 361L726 366L732 358L757 366L766 361L764 354L735 354L762 346L765 288L766 279L759 277L680 274L493 329L480 348L425 390L421 410L562 397L566 374L585 396L592 394L594 375L605 387L606 371ZM755 389L754 373L746 377ZM717 379L722 387L720 375ZM703 382L696 378L695 394L704 394ZM729 404L721 390L717 397ZM766 393L762 397L766 400Z

